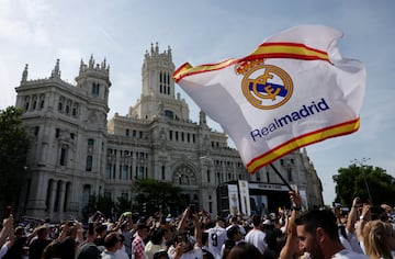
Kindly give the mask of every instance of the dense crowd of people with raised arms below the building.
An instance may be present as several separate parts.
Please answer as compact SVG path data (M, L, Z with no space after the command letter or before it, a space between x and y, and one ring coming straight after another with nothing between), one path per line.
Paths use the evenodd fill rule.
M46 222L30 230L10 215L0 232L0 259L292 259L394 258L393 207L373 207L354 198L352 206L302 211L293 206L268 215L213 218L188 206L177 217L123 213L103 221L100 212L83 225Z

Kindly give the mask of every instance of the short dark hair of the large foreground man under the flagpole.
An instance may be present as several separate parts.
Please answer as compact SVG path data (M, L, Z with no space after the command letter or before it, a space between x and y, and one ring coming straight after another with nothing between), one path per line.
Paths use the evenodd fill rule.
M339 240L337 218L330 210L312 210L295 219L295 225L304 225L305 230L315 236L315 230L320 227L331 238Z

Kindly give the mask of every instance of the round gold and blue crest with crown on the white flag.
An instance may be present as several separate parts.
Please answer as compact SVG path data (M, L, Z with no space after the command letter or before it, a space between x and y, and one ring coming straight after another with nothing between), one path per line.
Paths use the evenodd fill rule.
M262 110L279 108L292 95L293 82L283 69L266 65L263 59L236 65L236 74L244 75L242 94L249 103Z

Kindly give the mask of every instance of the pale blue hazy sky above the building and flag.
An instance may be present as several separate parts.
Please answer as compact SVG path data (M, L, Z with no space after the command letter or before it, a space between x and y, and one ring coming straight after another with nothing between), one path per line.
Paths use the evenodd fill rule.
M366 67L366 92L357 133L306 147L324 201L331 204L332 176L351 160L395 177L394 13L393 0L0 0L0 110L15 104L25 64L29 79L47 78L59 58L61 79L76 85L81 59L105 58L110 119L127 114L139 98L144 54L151 43L160 52L170 46L179 67L241 58L295 25L332 26L345 33L338 42L342 56ZM200 109L176 90L190 104L192 121L199 121ZM222 131L213 121L210 125Z

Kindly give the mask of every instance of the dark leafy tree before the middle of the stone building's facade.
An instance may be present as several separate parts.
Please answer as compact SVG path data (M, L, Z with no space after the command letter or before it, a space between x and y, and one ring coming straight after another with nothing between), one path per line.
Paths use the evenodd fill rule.
M140 212L153 214L158 211L162 213L174 213L177 211L181 188L169 182L145 179L136 181L136 189Z

